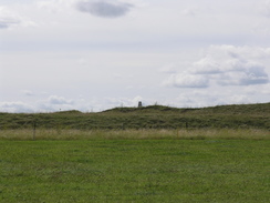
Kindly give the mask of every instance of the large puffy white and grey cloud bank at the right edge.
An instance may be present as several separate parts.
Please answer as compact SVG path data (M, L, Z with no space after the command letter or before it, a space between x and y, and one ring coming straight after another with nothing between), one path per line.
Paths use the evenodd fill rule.
M209 48L206 57L194 62L187 71L172 74L163 84L176 88L267 84L267 68L256 60L267 55L270 57L269 49L214 45Z

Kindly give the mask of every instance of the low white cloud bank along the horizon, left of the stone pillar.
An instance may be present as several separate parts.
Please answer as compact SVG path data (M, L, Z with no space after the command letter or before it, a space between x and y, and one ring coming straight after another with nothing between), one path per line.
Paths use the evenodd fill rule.
M70 100L60 95L50 95L44 100L35 100L31 104L23 101L0 102L0 112L33 113L79 110L82 112L97 112L115 106L137 106L138 101L146 100L137 95L135 98L92 98Z

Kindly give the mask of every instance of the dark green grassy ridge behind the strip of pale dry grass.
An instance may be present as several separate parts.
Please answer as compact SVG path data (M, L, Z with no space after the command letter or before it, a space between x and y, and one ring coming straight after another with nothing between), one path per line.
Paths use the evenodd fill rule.
M98 113L0 113L0 129L264 129L270 103L178 109L163 105L115 108Z

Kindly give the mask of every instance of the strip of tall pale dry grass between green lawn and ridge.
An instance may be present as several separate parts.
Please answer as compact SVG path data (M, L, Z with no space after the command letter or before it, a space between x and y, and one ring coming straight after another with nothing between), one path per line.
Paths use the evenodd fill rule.
M270 131L260 129L194 130L2 130L0 140L270 140Z

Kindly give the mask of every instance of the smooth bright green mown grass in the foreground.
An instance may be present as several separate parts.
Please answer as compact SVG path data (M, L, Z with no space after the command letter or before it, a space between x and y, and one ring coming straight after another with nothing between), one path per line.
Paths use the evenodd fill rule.
M269 140L0 141L0 202L269 202Z

